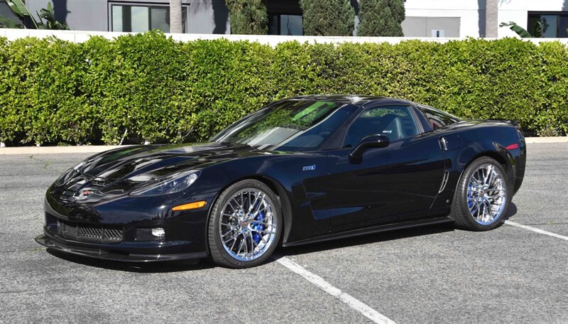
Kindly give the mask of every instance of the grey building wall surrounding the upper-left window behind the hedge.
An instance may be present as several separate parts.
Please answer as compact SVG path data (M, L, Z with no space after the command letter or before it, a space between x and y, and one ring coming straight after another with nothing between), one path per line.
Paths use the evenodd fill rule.
M169 0L50 0L55 17L75 31L110 31L111 4L169 5ZM27 0L32 13L47 6L48 0ZM229 33L229 11L224 0L182 0L187 5L188 33Z

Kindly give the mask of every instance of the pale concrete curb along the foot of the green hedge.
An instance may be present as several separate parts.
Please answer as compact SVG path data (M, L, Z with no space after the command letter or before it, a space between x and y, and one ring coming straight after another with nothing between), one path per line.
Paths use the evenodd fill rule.
M557 137L527 137L528 144L544 143L568 143L568 136ZM83 145L83 146L21 146L21 147L0 147L0 155L3 154L57 154L57 153L99 153L113 148L125 147L127 145Z

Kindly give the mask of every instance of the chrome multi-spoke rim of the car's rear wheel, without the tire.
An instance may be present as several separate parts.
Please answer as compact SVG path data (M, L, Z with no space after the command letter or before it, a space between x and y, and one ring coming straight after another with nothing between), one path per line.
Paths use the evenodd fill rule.
M491 163L479 166L469 178L467 207L474 220L490 225L501 217L507 201L505 178Z

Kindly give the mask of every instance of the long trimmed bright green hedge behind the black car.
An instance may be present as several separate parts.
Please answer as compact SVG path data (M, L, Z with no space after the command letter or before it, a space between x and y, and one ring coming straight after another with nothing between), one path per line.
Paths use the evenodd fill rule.
M402 97L463 118L568 131L568 50L505 38L449 43L180 43L160 33L0 38L0 141L202 141L276 99Z

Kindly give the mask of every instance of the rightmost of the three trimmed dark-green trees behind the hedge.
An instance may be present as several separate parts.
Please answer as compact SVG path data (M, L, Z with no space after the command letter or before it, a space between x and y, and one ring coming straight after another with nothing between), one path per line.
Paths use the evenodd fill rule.
M357 36L402 37L404 19L403 0L361 0Z

